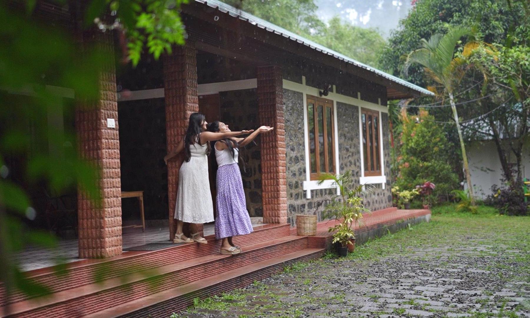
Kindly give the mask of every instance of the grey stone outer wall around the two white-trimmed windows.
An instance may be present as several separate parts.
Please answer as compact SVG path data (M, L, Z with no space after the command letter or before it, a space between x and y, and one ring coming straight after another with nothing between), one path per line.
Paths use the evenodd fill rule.
M284 90L285 142L287 145L287 207L288 222L295 224L296 214L317 214L322 220L322 208L316 208L323 196L333 195L334 189L312 190L311 199L306 199L303 181L306 178L304 151L304 104L303 94ZM392 206L390 195L390 145L388 142L388 116L383 113L383 147L386 189L381 185L372 189L365 198L365 205L371 210ZM339 171L352 171L354 181L359 184L359 108L354 105L337 103L337 121L339 133Z

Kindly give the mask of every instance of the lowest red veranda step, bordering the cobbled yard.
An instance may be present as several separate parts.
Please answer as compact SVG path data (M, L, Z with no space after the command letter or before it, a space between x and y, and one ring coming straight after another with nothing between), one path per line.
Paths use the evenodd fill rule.
M275 258L252 263L218 275L167 289L136 301L123 303L106 310L87 315L87 318L108 317L168 317L193 303L193 298L206 298L234 288L252 284L281 272L286 266L298 261L316 259L325 249L303 249Z

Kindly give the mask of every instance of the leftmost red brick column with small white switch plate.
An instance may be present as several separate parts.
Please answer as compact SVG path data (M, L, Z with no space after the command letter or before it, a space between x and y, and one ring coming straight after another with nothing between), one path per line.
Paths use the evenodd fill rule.
M79 257L105 258L121 254L120 142L114 48L110 32L93 32L84 40L107 59L100 72L99 100L76 109L80 154L98 167L101 193L101 201L95 202L78 191ZM116 121L116 128L107 128L107 118Z

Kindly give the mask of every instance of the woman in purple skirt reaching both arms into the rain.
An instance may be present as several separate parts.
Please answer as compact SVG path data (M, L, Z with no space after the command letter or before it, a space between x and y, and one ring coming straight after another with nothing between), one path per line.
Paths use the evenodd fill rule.
M225 138L214 144L217 161L217 218L215 219L215 237L222 238L221 254L235 255L241 249L234 246L232 236L252 232L249 213L246 210L245 192L239 170L239 147L245 146L261 133L273 128L261 126L246 138ZM224 122L214 121L208 124L208 131L227 133L230 131Z

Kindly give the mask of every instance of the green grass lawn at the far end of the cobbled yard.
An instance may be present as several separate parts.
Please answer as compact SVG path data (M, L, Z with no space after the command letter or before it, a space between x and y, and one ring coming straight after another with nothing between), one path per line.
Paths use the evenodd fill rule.
M493 250L520 250L526 267L514 269L516 273L530 273L530 216L504 216L488 206L479 206L477 214L457 213L456 205L432 208L429 223L414 225L408 230L385 235L366 244L356 246L348 259L373 259L390 254L406 254L410 248L421 245L432 247L455 246L461 240L474 245L493 245ZM507 246L509 246L507 248ZM328 257L334 257L328 255Z

